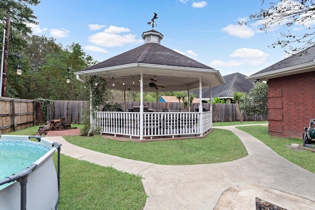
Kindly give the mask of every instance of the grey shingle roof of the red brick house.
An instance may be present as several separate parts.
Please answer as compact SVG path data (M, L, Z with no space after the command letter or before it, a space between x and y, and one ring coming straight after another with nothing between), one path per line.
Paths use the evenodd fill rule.
M315 45L258 71L247 79L268 80L292 74L314 71Z

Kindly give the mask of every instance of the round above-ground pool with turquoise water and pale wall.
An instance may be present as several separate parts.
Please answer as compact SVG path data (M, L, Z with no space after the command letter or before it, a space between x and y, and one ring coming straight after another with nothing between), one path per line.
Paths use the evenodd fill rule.
M58 209L60 147L41 136L0 136L0 210Z

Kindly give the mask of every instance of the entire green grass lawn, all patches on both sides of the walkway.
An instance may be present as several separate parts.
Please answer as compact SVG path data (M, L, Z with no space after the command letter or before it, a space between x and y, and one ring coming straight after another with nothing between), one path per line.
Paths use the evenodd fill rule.
M252 122L220 122L214 126ZM266 123L258 122L258 123ZM81 126L81 125L80 125ZM79 126L78 126L79 127ZM237 127L255 136L289 161L315 173L315 154L294 151L285 145L302 144L300 139L268 135L261 125ZM38 126L10 134L34 135ZM204 164L231 161L247 155L241 141L231 132L214 129L206 138L147 143L118 142L102 136L64 136L72 144L130 159L169 165ZM62 150L62 148L61 148ZM54 154L56 160L57 154ZM141 210L147 195L141 177L61 155L61 196L59 210Z

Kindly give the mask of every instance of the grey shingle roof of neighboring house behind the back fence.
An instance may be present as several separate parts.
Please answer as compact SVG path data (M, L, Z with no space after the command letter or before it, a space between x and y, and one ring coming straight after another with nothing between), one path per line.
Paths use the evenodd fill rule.
M249 93L249 91L253 88L253 81L246 79L246 75L241 73L225 75L223 76L223 79L226 82L225 84L212 87L213 98L233 98L234 91ZM199 98L199 90L193 90L192 92L197 95L196 98ZM202 98L210 99L209 88L202 89Z

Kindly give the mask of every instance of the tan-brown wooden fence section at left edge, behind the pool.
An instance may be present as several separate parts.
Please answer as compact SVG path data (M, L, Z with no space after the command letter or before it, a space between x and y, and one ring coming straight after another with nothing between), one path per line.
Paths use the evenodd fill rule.
M0 134L35 124L34 100L0 97Z

